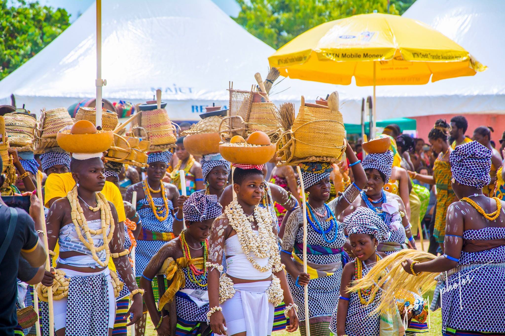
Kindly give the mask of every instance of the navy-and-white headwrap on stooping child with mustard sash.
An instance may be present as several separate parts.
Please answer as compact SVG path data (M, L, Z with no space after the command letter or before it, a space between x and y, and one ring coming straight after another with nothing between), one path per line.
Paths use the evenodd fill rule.
M221 216L223 207L218 203L218 196L193 192L184 202L182 212L190 222L201 222Z

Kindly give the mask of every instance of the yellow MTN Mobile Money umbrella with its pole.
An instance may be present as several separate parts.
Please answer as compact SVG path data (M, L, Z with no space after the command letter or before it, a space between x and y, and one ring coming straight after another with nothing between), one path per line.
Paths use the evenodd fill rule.
M302 33L268 58L285 77L358 86L420 85L473 76L486 66L442 33L417 20L361 14ZM372 134L373 134L372 133Z

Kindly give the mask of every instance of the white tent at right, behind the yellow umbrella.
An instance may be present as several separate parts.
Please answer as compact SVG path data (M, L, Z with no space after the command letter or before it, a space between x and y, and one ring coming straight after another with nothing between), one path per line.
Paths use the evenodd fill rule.
M417 0L403 16L432 26L488 69L475 76L427 85L379 86L378 117L505 113L505 64L501 58L505 44L499 35L505 30L504 13L502 0Z

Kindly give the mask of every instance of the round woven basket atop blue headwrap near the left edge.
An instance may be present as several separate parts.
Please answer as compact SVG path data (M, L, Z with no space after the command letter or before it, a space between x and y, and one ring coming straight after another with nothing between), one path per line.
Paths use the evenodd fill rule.
M33 131L37 120L28 113L7 113L4 115L5 129L9 135L11 147L19 152L32 151Z

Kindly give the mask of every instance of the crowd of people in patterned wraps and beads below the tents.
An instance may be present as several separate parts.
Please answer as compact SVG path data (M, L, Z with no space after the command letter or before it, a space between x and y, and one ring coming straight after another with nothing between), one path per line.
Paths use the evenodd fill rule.
M146 168L104 163L102 153L12 150L16 193L29 193L31 207L29 215L0 207L0 256L10 242L0 257L0 333L35 334L18 325L16 307L33 305L48 287L61 295L53 301L58 336L126 336L132 324L137 336L147 328L158 335L305 335L307 319L313 336L422 333L430 303L421 288L397 293L392 313L377 311L380 290L349 289L379 261L421 249L423 236L432 260L402 265L412 277L440 274L431 308L442 309L441 332L505 334L492 309L505 301L497 290L505 282L505 132L497 149L492 132L480 126L467 136L467 120L456 116L437 120L425 142L391 124L379 137L390 140L386 152L346 143L339 163L300 164L301 175L275 159L258 165L230 164L219 153L196 157L184 137L174 150L149 153ZM460 280L451 291L469 272L471 283ZM46 300L38 313L46 335Z

